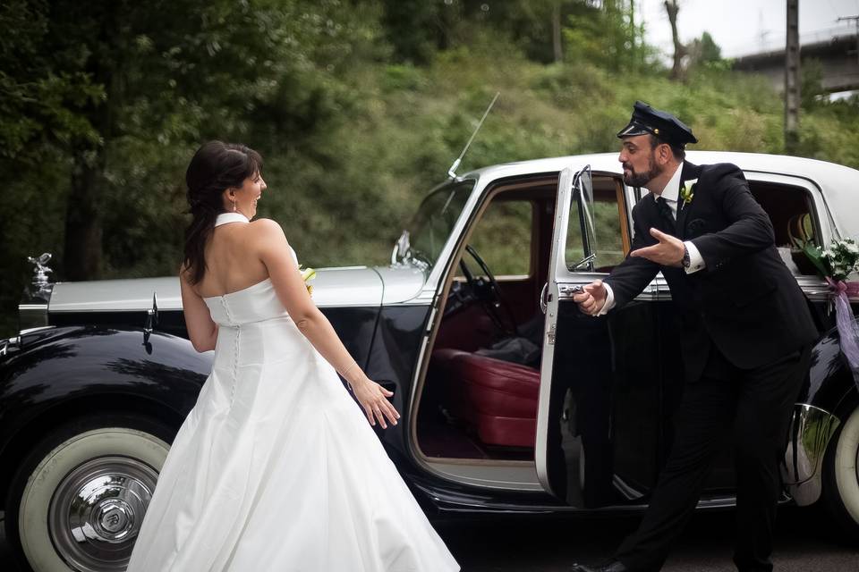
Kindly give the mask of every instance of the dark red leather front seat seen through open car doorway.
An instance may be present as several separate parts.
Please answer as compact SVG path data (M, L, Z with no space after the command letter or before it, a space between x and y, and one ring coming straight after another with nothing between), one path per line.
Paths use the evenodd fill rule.
M540 371L459 349L432 354L451 412L489 445L533 447Z

